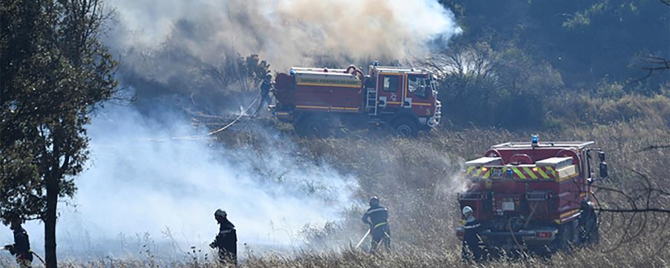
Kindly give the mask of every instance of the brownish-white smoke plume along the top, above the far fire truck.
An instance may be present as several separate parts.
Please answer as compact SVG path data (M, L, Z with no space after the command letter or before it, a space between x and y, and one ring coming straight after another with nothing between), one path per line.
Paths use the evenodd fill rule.
M119 49L179 47L204 62L259 54L273 68L424 57L461 29L438 1L111 0Z

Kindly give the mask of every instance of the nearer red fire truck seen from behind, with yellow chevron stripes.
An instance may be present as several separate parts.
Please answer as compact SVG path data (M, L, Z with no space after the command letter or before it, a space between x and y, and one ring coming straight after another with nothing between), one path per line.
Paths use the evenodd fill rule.
M569 244L597 243L592 198L607 176L605 154L594 142L507 142L465 164L468 191L459 194L479 221L477 234L492 254L530 250L548 253ZM600 178L592 177L590 152L597 150ZM464 229L456 229L463 239ZM464 248L464 251L466 248Z

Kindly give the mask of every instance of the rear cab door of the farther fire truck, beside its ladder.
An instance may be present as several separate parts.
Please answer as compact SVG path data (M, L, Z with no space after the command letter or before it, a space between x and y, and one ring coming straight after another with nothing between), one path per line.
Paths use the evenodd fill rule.
M377 94L379 112L392 114L400 110L403 98L403 75L399 73L379 73L377 76Z

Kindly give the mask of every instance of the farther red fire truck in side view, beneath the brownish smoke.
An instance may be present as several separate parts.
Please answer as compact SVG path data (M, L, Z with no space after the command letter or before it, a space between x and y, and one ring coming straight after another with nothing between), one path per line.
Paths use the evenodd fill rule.
M300 135L325 135L338 126L390 126L415 136L440 123L433 75L424 69L369 67L298 68L275 77L273 114Z

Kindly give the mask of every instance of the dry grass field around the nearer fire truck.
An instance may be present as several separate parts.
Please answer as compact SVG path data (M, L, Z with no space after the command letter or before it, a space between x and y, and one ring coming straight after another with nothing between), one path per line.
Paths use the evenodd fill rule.
M591 248L574 248L549 258L525 256L478 264L461 260L460 241L454 234L460 221L456 193L466 187L460 176L461 165L466 159L479 157L492 144L528 140L535 133L500 128L440 128L417 139L407 139L383 131L338 130L332 137L302 139L292 135L290 126L271 120L219 133L217 144L251 147L259 153L286 146L269 137L288 139L294 154L355 177L359 204L364 204L369 195L378 195L391 214L392 253L371 255L353 248L365 226L359 220L363 207L352 204L342 211L341 221L306 226L302 232L306 242L300 250L261 254L252 249L241 256L239 267L670 267L670 214L643 211L670 208L670 149L655 147L670 144L669 119L647 111L645 116L628 120L576 124L537 133L542 140L594 140L596 147L606 151L610 168L609 178L595 193L600 208L639 211L603 211L602 240ZM662 109L655 111L666 113ZM0 265L14 263L3 259ZM62 266L222 265L202 258L177 262L121 258L63 262Z

